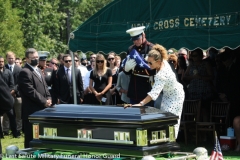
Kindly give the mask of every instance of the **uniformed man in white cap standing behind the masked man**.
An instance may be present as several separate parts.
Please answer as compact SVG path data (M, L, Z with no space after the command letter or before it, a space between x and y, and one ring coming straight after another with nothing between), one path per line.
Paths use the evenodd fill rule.
M53 84L53 69L47 67L47 57L49 55L49 52L47 51L38 51L38 55L39 55L39 64L38 64L38 68L41 69L42 74L45 77L45 81L47 83L47 88L51 94L52 100L53 99L53 90L52 90L52 84ZM54 105L55 103L52 101L52 104Z

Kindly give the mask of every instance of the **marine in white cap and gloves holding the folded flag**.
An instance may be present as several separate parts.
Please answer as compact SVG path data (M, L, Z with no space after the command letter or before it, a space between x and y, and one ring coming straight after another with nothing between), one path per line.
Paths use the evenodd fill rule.
M126 31L130 34L133 42L133 45L128 48L127 54L135 49L141 57L146 58L148 52L152 49L153 44L147 41L144 29L145 26L141 26ZM134 59L130 58L127 59L124 70L125 73L130 74L131 77L127 96L130 98L131 104L138 104L151 90L152 86L150 79L153 79L153 75L156 74L156 70L142 68L136 65L136 61Z

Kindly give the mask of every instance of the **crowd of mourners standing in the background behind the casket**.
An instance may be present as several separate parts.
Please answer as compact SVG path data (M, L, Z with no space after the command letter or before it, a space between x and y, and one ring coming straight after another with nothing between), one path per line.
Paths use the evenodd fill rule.
M168 50L168 61L173 63L176 70L178 82L183 85L185 99L202 100L202 111L210 112L211 101L230 102L230 122L240 113L238 96L239 89L239 48L231 50L224 48L216 50L210 48L206 52L201 49L187 51L182 48L177 52ZM105 58L106 57L106 58ZM5 63L6 60L6 64ZM1 77L8 84L13 96L18 98L19 104L11 113L3 115L0 133L8 135L12 130L14 137L18 137L21 131L21 95L17 92L17 76L14 66L22 68L25 65L24 59L15 57L13 52L8 52L5 57L0 57ZM52 105L61 103L73 103L73 99L66 94L68 92L67 81L62 80L58 70L65 66L71 66L71 56L59 54L57 58L47 60L45 55L39 55L39 65L42 74L46 76L48 89L52 97ZM107 56L103 54L91 54L90 59L79 59L75 54L75 66L80 71L83 90L79 87L78 97L82 101L78 103L117 105L130 103L127 96L130 75L127 75L121 68L121 57L114 52ZM66 67L67 68L67 67ZM19 73L19 72L18 72ZM15 82L15 81L16 82ZM64 84L66 83L66 84ZM139 86L141 87L141 86ZM83 91L83 96L79 92ZM71 97L72 95L70 95ZM67 97L67 98L66 98ZM207 115L207 114L205 114ZM204 117L203 117L204 118ZM205 117L208 120L208 116ZM17 121L16 121L17 120Z

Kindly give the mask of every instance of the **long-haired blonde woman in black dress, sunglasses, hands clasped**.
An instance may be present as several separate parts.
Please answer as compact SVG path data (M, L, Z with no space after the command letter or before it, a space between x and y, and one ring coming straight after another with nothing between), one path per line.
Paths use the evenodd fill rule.
M95 95L91 104L110 105L112 96L112 71L107 68L106 60L102 54L96 56L96 66L90 73L89 88Z

